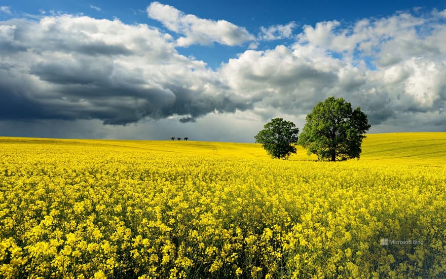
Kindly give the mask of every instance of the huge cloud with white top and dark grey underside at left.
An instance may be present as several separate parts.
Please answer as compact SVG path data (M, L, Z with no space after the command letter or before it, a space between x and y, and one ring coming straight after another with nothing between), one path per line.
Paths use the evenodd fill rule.
M203 62L179 55L168 34L146 25L67 15L1 24L10 55L0 61L0 119L126 125L183 115L187 123L251 107Z

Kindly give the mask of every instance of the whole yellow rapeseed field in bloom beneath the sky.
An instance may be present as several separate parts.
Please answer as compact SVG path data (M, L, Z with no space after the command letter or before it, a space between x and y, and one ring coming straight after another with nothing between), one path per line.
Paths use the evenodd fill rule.
M446 133L362 150L0 137L0 277L446 277Z

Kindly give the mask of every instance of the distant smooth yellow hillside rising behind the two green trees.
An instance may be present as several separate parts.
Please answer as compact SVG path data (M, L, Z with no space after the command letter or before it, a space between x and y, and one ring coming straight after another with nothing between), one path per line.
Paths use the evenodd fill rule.
M268 158L259 144L218 143L196 141L123 141L123 140L61 140L50 138L0 137L0 144L56 144L87 145L101 148L121 147L140 149L141 152L173 152L210 156ZM414 164L444 165L446 159L446 132L405 132L367 134L362 144L360 161L410 161ZM298 154L290 160L316 160L298 147Z

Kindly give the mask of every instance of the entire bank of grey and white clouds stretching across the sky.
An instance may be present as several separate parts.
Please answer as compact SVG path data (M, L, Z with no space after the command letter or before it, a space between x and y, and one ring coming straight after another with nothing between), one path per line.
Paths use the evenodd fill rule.
M176 13L175 21L157 9ZM184 32L182 46L252 39L229 22L212 21L215 26L193 33L206 22L159 3L147 11L160 12L170 30ZM258 127L274 116L302 121L334 95L360 106L375 131L423 130L419 125L444 131L445 15L305 25L292 46L246 50L215 71L181 55L169 33L145 24L72 15L0 21L0 121L176 119L200 125L227 114Z

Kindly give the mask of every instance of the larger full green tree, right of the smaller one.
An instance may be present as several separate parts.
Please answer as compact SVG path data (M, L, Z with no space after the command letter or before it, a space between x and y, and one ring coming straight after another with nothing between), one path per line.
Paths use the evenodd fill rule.
M329 97L307 115L299 144L319 160L337 161L357 158L362 139L370 129L367 116L343 98Z

